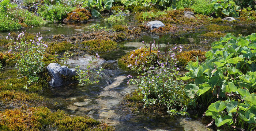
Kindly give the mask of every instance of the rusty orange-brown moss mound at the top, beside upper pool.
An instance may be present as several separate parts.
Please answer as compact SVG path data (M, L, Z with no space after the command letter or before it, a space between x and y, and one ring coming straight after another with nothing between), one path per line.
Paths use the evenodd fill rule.
M71 13L68 13L68 17L64 19L65 23L87 23L90 19L91 13L84 8L76 8Z

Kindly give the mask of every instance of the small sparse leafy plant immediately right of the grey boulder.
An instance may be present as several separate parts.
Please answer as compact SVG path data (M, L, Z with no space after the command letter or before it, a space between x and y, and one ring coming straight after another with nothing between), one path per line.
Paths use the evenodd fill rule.
M84 70L84 71L80 70L79 66L76 66L76 72L77 72L76 77L79 81L80 86L99 83L98 79L100 78L101 71L103 71L104 69L102 67L100 67L99 70L91 69L93 60L97 60L97 59L99 59L98 53L96 53L96 56L91 56L91 60L89 61L90 65L87 65L86 67L87 70Z

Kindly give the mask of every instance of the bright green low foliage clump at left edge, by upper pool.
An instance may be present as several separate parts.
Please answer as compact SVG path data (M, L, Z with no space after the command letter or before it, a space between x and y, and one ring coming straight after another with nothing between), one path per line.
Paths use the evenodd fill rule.
M5 14L0 13L0 31L14 31L21 28L17 20L12 20Z

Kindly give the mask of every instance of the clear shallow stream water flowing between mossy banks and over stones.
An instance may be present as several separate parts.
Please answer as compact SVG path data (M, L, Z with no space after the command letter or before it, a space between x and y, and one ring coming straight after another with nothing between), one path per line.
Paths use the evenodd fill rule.
M43 35L70 35L88 31L89 26L94 23L110 27L101 20L95 20L87 24L48 24L44 27L34 27L26 30L27 32L41 32ZM235 31L232 32L235 35L238 35L238 33L249 35L255 31L255 27L236 27ZM176 43L210 45L213 40L205 40L200 37L202 32L188 33L175 38L172 37L172 34L143 35L135 40L118 43L119 51L103 54L102 57L106 60L117 60L128 51L143 46L142 40L148 43L154 39L156 42L160 42L161 47L165 47L168 42L170 45ZM2 35L7 35L7 33L2 33ZM86 61L84 59L86 57L82 61ZM86 68L86 64L83 66ZM146 116L127 113L122 109L120 102L125 95L136 89L134 85L127 85L128 78L126 76L129 74L121 70L105 70L104 72L106 77L103 77L99 84L57 87L51 89L46 96L64 99L68 104L62 110L70 114L88 115L114 126L117 131L207 131L202 123L191 118L173 119L170 116Z

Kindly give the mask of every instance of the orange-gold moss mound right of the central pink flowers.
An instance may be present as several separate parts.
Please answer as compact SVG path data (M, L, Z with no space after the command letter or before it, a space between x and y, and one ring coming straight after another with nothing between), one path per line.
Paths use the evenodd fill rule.
M189 61L196 61L196 57L198 56L198 60L199 62L202 62L204 60L206 60L205 55L205 51L184 51L182 53L179 53L177 55L177 61L178 62L178 66L185 68L185 66L188 64Z

